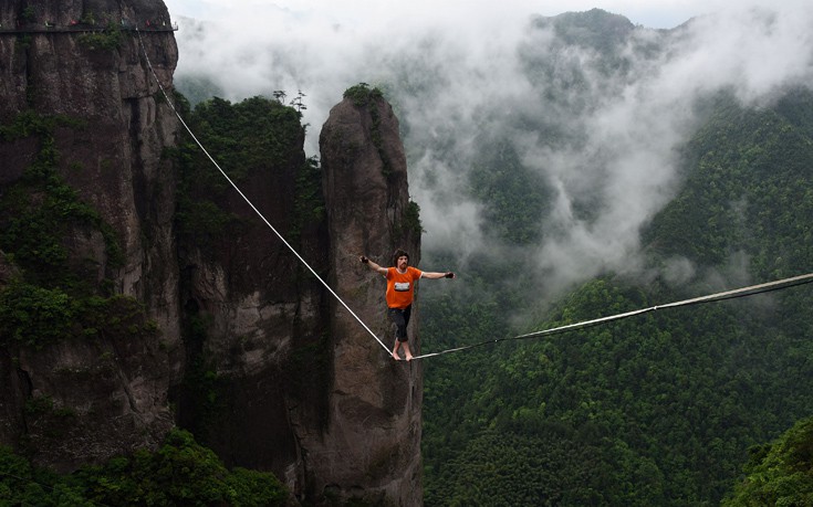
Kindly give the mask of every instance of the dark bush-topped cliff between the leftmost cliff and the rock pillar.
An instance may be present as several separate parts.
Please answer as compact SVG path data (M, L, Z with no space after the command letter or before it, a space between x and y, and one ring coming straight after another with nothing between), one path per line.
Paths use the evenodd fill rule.
M233 135L227 118L246 129L234 140L241 157L232 155L223 169L324 274L324 213L305 213L323 208L321 191L316 202L306 198L321 189L320 172L305 160L299 115L261 99L216 102L212 109L226 112L207 116L216 137ZM183 166L179 257L188 367L173 394L179 423L228 464L272 471L306 496L298 425L319 432L327 418L324 288L212 165L199 152L195 157ZM212 220L201 220L206 210ZM293 411L301 414L296 423Z

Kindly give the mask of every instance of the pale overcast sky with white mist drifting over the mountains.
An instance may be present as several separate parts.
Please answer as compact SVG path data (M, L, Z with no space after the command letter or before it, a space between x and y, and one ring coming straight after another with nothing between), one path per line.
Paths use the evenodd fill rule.
M499 251L481 236L482 203L460 199L459 189L478 162L472 147L482 136L510 133L523 165L556 192L540 223L544 241L523 253L553 292L634 267L639 231L679 186L674 152L691 133L694 101L729 89L760 105L786 86L813 82L811 0L165 2L179 22L176 83L204 77L232 102L302 91L308 155L319 152L320 128L346 88L400 86L394 106L402 126L410 127L404 136L409 191L421 209L425 250ZM529 30L534 14L592 8L645 29L698 19L674 47L656 61L632 62L633 73L618 80L601 71L595 53L554 53L552 33ZM654 34L638 30L634 38L646 45ZM560 97L572 91L530 80L521 70L522 47L549 55L560 75L581 73L588 86L573 104L591 104L588 110L540 102L541 91ZM551 145L540 131L513 131L518 112L536 125L579 133L585 144ZM432 144L446 152L427 148ZM592 216L579 213L584 202L598 203ZM691 275L694 266L682 272Z

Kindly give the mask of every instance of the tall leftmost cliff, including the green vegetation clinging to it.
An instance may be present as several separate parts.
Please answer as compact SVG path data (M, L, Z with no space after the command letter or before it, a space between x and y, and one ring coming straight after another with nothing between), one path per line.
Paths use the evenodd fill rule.
M3 323L0 442L24 435L59 469L158 442L173 424L175 176L161 150L176 120L136 32L101 31L158 19L168 21L159 0L0 6L0 247L22 274L4 303L35 300ZM143 38L170 85L171 29ZM119 328L102 326L94 304ZM60 328L60 311L72 327Z

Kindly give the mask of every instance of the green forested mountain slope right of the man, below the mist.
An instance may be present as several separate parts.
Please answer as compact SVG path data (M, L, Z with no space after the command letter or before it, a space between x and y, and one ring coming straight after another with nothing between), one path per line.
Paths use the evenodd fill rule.
M643 232L649 267L577 287L533 328L812 271L813 95L706 107ZM511 329L522 302L478 267L473 300L425 296L436 347ZM750 446L811 414L812 303L805 285L428 363L427 505L716 505Z

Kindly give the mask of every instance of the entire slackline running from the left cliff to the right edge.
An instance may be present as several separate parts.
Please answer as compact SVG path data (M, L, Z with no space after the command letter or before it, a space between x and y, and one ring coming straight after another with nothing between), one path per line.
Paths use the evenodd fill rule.
M277 229L274 229L274 226L271 225L271 223L265 219L265 216L262 215L262 213L260 212L260 210L258 210L257 207L254 207L254 204L251 202L251 200L249 200L249 198L246 197L246 194L240 190L240 188L231 180L231 178L229 178L229 176L226 173L226 171L223 171L220 168L220 166L215 160L215 158L212 158L212 156L209 155L209 151L206 150L206 148L204 147L204 145L198 140L198 138L195 136L195 134L191 131L191 129L187 126L186 122L184 122L184 118L180 116L180 113L178 113L178 110L175 108L175 104L169 98L169 95L164 89L164 86L160 84L160 80L158 80L158 75L156 74L155 70L153 68L153 64L149 61L149 55L147 54L147 49L145 47L144 41L142 40L142 33L140 33L140 31L137 28L136 28L135 31L138 34L138 42L139 42L139 44L142 46L142 52L144 53L144 57L147 61L147 66L149 67L149 71L153 73L153 77L155 77L155 81L158 84L158 88L160 88L161 93L164 94L164 97L167 99L167 103L169 104L169 107L171 107L173 112L175 113L175 116L178 117L178 120L180 120L180 124L184 126L184 128L186 129L186 131L189 133L189 135L191 136L191 138L198 145L198 147L204 151L204 154L209 158L209 160L215 165L215 167L218 169L218 171L220 171L220 173L223 176L223 178L226 178L226 180L229 182L229 184L231 184L231 187L237 191L237 193L239 193L240 197L249 204L249 207L254 211L254 213L257 213L257 215L265 223L265 225L268 225L269 229L271 229L271 231L273 231L273 233L277 235L277 237L279 237L280 241L282 241L282 243L285 246L288 246L288 249L296 256L296 258L299 258L299 261L305 267L308 267L308 270L313 274L313 276L315 276L316 279L319 279L322 283L322 285L324 285L324 287L333 295L333 297L335 297L336 300L342 306L344 306L344 308L358 321L358 324L361 324L362 327L367 332L369 332L369 335L373 338L375 338L375 340L384 348L384 350L386 350L387 353L389 353L389 348L386 345L384 345L384 342L375 335L375 332L373 332L369 329L369 327L367 327L367 325L364 324L364 321L350 308L350 306L347 306L347 304L344 303L344 300L342 300L342 298L333 291L333 288L331 288L331 286L327 285L327 283L324 279L322 279L321 276L319 276L319 274L311 267L310 264L308 264L308 262L304 258L302 258L302 256L282 236L282 234L280 234L279 231L277 231ZM435 356L441 356L441 355L445 355L445 353L460 352L460 351L463 351L463 350L470 350L470 349L473 349L473 348L477 348L477 347L482 347L482 346L490 345L490 344L497 344L497 342L500 342L500 341L523 340L523 339L531 339L531 338L540 338L540 337L550 336L550 335L557 335L557 334L561 334L561 332L569 332L569 331L572 331L572 330L575 330L575 329L581 329L581 328L586 328L586 327L591 327L591 326L596 326L598 324L609 323L612 320L621 320L621 319L624 319L624 318L634 317L636 315L646 314L648 311L654 311L654 310L657 310L657 309L675 308L675 307L678 307L678 306L688 306L688 305L696 305L696 304L701 304L701 303L712 303L712 302L718 302L718 300L723 300L723 299L732 299L732 298L736 298L736 297L752 296L752 295L755 295L755 294L762 294L762 293L767 293L767 292L770 292L770 291L779 291L779 289L782 289L782 288L789 288L789 287L793 287L793 286L796 286L796 285L807 284L807 283L811 283L811 282L813 282L813 273L810 273L810 274L806 274L806 275L794 276L794 277L790 277L790 278L783 278L783 279L779 279L779 281L774 281L774 282L768 282L768 283L759 284L759 285L751 285L751 286L748 286L748 287L742 287L742 288L738 288L738 289L733 289L733 291L727 291L727 292L722 292L722 293L710 294L710 295L707 295L707 296L695 297L695 298L691 298L691 299L684 299L684 300L679 300L679 302L675 302L675 303L667 303L665 305L650 306L648 308L642 308L642 309L632 310L632 311L627 311L627 313L623 313L623 314L609 315L607 317L601 317L601 318L596 318L596 319L592 319L592 320L583 320L581 323L569 324L569 325L564 325L564 326L554 327L554 328L551 328L551 329L544 329L544 330L541 330L541 331L529 332L529 334L525 334L525 335L518 335L518 336L507 337L507 338L497 338L497 339L480 341L480 342L477 342L477 344L467 345L467 346L462 346L462 347L456 347L456 348L451 348L451 349L447 349L447 350L441 350L441 351L438 351L438 352L430 352L430 353L418 355L418 356L415 356L413 359L426 359L426 358L430 358L430 357L435 357Z

